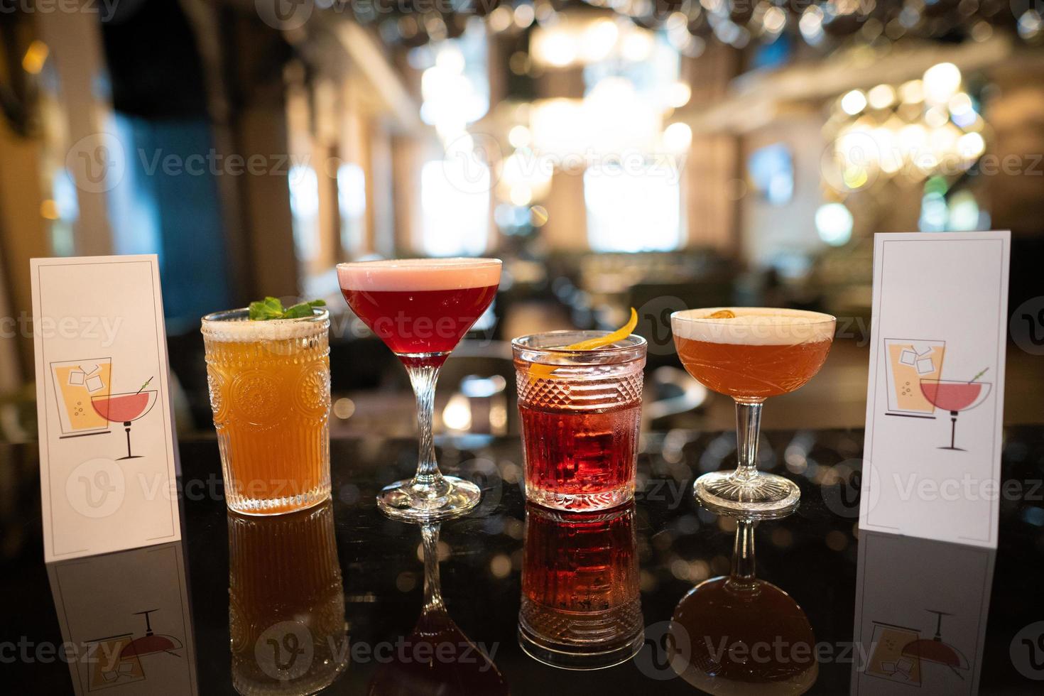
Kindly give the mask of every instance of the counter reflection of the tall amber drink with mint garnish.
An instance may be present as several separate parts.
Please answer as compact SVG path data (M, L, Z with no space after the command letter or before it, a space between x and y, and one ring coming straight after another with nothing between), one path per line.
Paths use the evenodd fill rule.
M325 689L349 659L332 504L228 515L232 686L240 694Z

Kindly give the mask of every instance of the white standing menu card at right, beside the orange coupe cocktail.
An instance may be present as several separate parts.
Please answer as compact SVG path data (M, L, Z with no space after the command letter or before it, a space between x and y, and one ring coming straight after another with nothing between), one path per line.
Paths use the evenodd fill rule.
M875 235L861 529L997 546L1010 244Z

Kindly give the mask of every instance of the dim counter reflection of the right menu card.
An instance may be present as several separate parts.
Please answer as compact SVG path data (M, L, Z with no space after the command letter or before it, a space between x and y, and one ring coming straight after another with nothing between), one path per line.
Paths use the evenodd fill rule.
M852 694L977 694L995 551L863 532Z

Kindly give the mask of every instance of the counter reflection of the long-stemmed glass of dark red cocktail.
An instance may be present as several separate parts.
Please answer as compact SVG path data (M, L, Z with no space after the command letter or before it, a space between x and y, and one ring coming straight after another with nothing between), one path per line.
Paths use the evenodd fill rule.
M437 524L421 527L424 550L424 608L402 649L390 651L370 682L370 696L459 694L506 696L497 666L450 618L438 575Z

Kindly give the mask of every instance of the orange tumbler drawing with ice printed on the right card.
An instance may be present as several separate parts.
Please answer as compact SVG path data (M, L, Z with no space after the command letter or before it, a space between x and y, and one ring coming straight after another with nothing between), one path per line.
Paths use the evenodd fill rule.
M939 379L943 371L946 341L885 338L887 415L933 418L935 406L920 388L921 380Z

